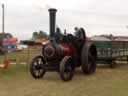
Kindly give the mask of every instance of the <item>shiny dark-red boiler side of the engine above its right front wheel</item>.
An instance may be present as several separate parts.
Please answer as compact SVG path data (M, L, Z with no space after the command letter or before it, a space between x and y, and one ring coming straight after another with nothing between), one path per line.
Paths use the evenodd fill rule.
M62 56L76 56L76 48L71 43L62 43L60 45Z

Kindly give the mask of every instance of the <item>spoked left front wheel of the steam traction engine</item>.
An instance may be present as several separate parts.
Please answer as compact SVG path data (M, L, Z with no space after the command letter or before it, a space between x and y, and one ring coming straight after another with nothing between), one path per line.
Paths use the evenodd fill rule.
M44 74L46 72L46 70L44 68L45 63L46 62L42 56L36 56L32 60L32 62L30 64L30 73L34 78L39 79L44 76Z

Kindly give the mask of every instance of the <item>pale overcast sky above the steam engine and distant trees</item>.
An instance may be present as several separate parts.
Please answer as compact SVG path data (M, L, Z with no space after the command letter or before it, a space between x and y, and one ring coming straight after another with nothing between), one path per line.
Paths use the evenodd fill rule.
M128 36L128 0L0 0L5 4L5 32L29 39L34 31L49 34L49 8L57 8L56 25L73 33L83 27L87 36ZM2 21L2 7L0 7ZM0 32L2 22L0 22Z

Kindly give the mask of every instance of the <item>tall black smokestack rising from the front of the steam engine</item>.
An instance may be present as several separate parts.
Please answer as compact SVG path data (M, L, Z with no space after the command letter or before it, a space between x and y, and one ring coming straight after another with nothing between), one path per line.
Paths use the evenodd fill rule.
M50 8L49 10L49 23L50 23L50 37L55 37L55 25L56 25L56 12L57 10L54 8Z

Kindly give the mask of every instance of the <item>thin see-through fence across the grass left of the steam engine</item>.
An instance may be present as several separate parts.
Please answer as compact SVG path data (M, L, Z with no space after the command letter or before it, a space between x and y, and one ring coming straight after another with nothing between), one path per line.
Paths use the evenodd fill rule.
M41 55L42 48L26 48L7 53L7 60L10 64L29 64L36 55ZM0 64L3 64L4 55L0 56Z

